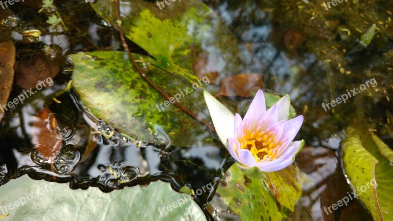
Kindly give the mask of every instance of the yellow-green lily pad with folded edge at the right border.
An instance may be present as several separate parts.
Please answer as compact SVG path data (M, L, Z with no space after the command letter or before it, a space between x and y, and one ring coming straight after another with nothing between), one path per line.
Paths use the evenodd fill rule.
M374 220L393 220L393 166L379 152L370 133L348 128L347 134L341 158L352 189Z

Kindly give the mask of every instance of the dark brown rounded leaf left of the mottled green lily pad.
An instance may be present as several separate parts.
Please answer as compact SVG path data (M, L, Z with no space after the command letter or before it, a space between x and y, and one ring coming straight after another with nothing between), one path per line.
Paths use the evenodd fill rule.
M24 89L34 88L38 81L44 81L48 77L52 79L60 71L53 60L43 55L33 55L28 60L15 63L15 81Z

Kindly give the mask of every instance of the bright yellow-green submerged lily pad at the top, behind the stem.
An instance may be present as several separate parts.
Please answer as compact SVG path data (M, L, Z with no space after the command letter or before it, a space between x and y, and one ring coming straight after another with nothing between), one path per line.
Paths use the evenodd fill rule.
M117 28L112 0L91 5ZM125 36L155 58L151 63L189 83L198 80L193 62L201 54L208 55L208 66L214 66L221 77L240 73L236 38L200 1L173 1L161 10L156 1L122 0L119 12Z

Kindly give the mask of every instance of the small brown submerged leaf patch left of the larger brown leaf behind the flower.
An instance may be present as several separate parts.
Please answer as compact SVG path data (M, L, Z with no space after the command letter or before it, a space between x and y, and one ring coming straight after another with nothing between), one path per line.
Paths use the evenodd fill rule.
M216 84L218 71L215 68L216 65L213 63L214 61L209 61L209 55L200 53L193 62L195 75L197 75L199 79L206 76L212 84Z

